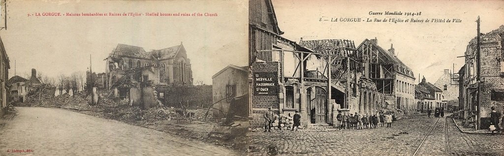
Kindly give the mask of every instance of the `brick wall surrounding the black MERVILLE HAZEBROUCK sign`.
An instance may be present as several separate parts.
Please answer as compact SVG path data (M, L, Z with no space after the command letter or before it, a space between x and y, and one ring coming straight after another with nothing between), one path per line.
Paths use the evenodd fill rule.
M278 80L280 80L278 62L255 62L252 64L252 70L254 72L276 72ZM252 83L254 84L255 81L253 81ZM268 107L272 107L272 110L275 114L279 113L279 92L281 92L282 89L280 86L278 87L279 88L277 89L277 92L271 95L254 95L254 93L250 93L252 100L251 116L253 116L253 118L249 120L251 127L264 126L265 120L263 114L266 110L268 110Z

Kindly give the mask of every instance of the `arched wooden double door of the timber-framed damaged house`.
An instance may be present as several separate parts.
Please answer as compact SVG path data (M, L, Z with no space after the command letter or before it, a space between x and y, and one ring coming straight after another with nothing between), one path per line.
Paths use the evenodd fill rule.
M306 99L311 123L327 123L327 92L322 87L306 89Z

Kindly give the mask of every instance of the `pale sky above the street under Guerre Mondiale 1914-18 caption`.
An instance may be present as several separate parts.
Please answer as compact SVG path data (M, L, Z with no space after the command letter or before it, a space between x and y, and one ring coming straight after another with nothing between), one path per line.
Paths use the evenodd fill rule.
M443 69L458 72L468 42L476 37L477 17L481 18L481 33L504 25L504 1L285 1L273 0L283 37L303 40L347 39L358 46L364 39L378 40L385 50L394 44L397 57L414 72L434 83ZM461 19L462 23L342 23L320 22L324 18L367 18L369 12L418 13L414 19ZM403 18L405 19L405 18ZM411 19L411 18L409 18ZM421 79L421 77L420 77ZM418 82L418 78L416 80Z

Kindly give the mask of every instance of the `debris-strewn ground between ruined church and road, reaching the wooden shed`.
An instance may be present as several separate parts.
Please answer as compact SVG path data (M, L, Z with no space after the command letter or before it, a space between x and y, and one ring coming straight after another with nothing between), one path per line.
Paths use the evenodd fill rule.
M188 130L185 128L180 128L180 126L176 124L168 126L171 128L166 127L164 127L163 129L157 128L162 127L162 125L159 125L161 121L169 122L172 120L176 120L177 117L180 117L180 115L176 113L176 111L180 110L180 108L167 107L164 105L156 105L150 109L141 109L139 106L132 106L131 102L128 99L122 99L122 100L114 99L108 96L110 95L110 93L102 91L98 91L97 93L99 96L98 96L98 102L95 105L89 105L91 96L86 96L85 94L78 92L73 96L71 96L69 93L64 93L56 97L42 96L43 94L41 94L40 96L41 98L32 97L30 99L33 100L28 100L27 102L23 103L17 103L15 104L15 106L53 107L53 108L68 109L72 111L79 111L96 117L113 119L143 127L154 128L160 131L174 133L191 139L200 139L206 142L211 142L212 140L215 141L214 137L219 138L218 135L221 135L222 137L218 139L220 141L215 142L215 144L232 147L234 149L239 148L239 150L246 150L247 148L246 142L248 142L248 139L246 137L236 137L230 140L229 138L233 137L218 133L212 133L212 136L214 137L210 137L208 134L212 130L213 128L212 126L208 126L207 127L208 130L204 131ZM187 110L187 112L194 114L194 117L192 117L192 119L198 121L199 124L211 123L212 121L215 122L212 114L213 111L209 110L208 108L195 109L195 110L189 109ZM230 127L236 129L242 125L243 123L231 123ZM245 131L248 130L248 128L244 129ZM227 141L222 141L223 139Z

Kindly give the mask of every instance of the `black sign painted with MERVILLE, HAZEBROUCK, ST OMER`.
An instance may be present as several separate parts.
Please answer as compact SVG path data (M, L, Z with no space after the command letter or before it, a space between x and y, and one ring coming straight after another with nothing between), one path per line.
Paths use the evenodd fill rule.
M254 72L254 95L276 95L277 90L276 72Z

